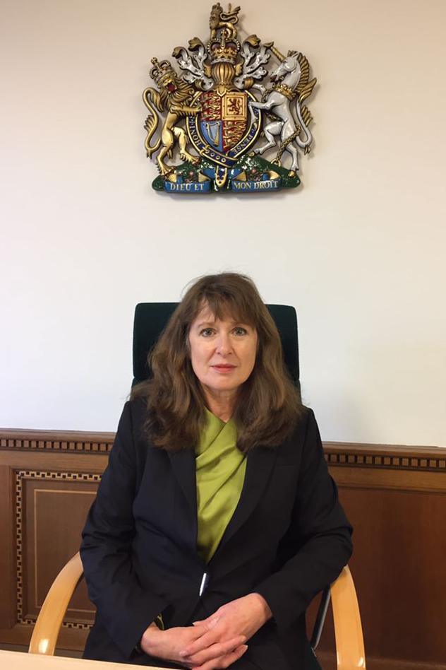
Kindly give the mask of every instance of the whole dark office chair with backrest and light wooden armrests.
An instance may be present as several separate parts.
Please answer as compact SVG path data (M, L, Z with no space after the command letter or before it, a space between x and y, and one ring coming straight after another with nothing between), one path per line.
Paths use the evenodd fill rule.
M147 354L157 341L178 302L140 302L135 307L133 322L133 382L143 382L150 377ZM299 342L297 317L294 307L267 305L279 331L284 350L284 361L291 380L300 391ZM71 596L83 575L79 553L73 556L54 580L32 633L29 652L53 655L59 630ZM338 670L365 668L361 617L354 582L345 566L334 584L323 591L313 634L306 649L305 670L322 670L316 659L320 633L332 597L333 618L337 645Z

